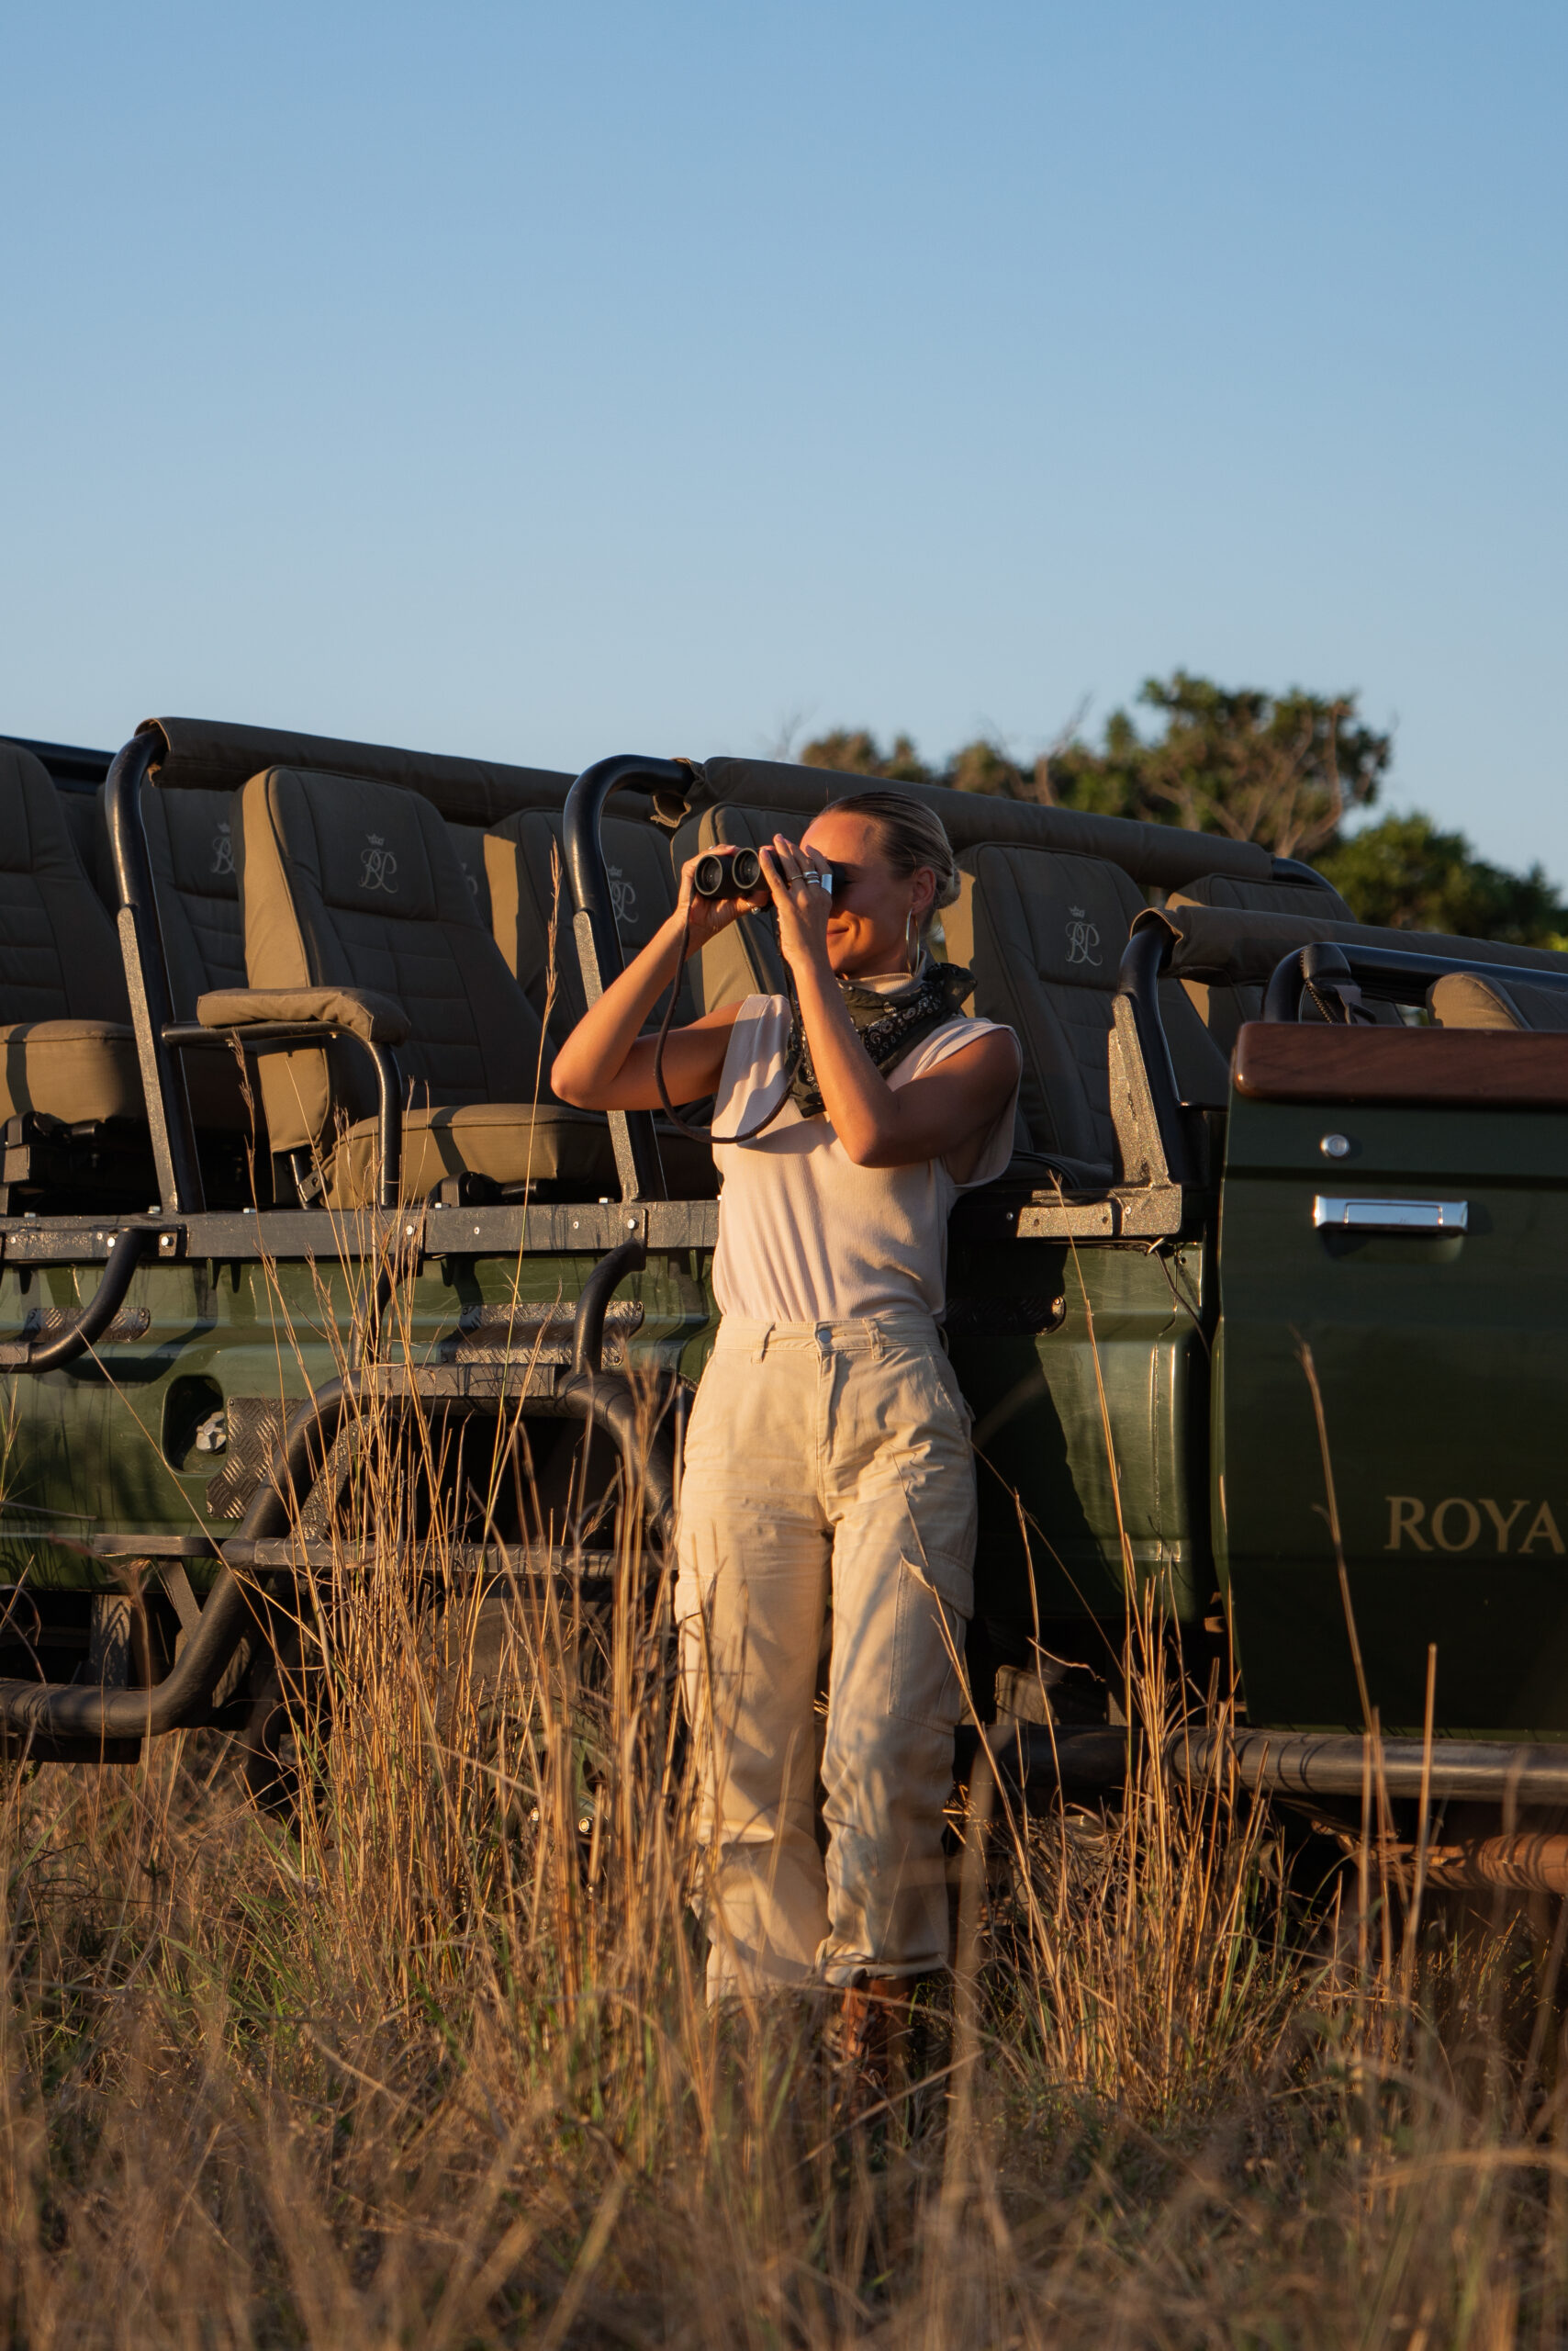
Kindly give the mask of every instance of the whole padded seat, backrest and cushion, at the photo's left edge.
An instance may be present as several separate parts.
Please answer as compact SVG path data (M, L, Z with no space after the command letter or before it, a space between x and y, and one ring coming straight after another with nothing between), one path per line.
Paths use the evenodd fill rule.
M141 1072L113 924L54 781L0 741L0 1119L141 1119Z

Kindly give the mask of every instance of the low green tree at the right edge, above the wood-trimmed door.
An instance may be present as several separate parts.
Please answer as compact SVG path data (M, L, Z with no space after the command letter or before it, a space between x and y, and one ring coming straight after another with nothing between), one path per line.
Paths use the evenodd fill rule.
M1316 860L1359 922L1394 931L1450 931L1516 947L1568 943L1568 905L1540 865L1526 875L1479 858L1462 832L1429 816L1385 816Z

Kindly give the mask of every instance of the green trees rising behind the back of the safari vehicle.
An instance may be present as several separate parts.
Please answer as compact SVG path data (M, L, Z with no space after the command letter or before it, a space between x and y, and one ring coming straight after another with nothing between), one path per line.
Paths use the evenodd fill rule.
M1262 694L1175 670L1150 677L1138 701L1159 712L1150 734L1112 710L1098 748L1072 731L1030 764L980 736L931 766L910 736L884 748L865 729L823 734L799 757L851 776L947 783L1262 842L1274 856L1316 865L1361 922L1568 947L1568 903L1540 865L1523 875L1488 865L1462 832L1420 813L1345 830L1378 799L1394 752L1392 736L1361 724L1354 694Z

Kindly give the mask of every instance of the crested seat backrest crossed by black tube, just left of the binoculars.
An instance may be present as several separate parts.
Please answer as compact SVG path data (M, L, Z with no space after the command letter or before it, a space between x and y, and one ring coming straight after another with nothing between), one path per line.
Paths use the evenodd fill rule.
M602 818L599 842L621 950L630 962L646 947L661 922L675 912L677 882L670 865L670 842L646 816L621 816L616 806ZM508 816L484 837L484 858L496 945L541 1018L550 1002L550 926L555 924L555 999L550 1004L550 1046L555 1051L588 1009L571 940L562 818L545 809ZM698 1009L691 980L682 973L675 1018L691 1020Z

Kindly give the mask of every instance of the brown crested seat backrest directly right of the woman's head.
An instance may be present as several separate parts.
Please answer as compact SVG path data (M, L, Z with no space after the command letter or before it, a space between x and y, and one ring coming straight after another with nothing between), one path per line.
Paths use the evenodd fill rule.
M943 924L947 955L976 976L976 1011L1006 1020L1023 1046L1020 1110L1037 1152L1058 1152L1112 1180L1107 1034L1126 933L1143 891L1117 865L1051 849L987 844L959 858L964 879ZM1187 1100L1225 1100L1225 1065L1185 999L1166 1011Z

